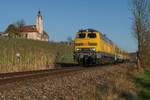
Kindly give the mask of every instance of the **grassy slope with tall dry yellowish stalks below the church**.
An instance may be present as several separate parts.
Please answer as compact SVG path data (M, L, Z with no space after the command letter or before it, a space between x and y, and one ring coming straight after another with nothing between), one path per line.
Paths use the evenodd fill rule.
M53 68L56 63L72 61L72 47L66 44L0 38L0 72Z

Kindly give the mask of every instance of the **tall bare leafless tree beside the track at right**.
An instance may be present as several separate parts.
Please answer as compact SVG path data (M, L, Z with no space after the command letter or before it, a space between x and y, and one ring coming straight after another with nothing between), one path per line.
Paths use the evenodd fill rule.
M140 69L150 34L150 0L132 0L132 14L134 36L138 44L137 68Z

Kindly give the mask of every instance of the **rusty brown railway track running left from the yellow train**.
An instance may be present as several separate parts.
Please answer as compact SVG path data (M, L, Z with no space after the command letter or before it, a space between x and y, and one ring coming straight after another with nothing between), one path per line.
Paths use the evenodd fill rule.
M26 71L26 72L14 72L14 73L3 73L0 74L0 85L19 82L28 79L37 79L45 76L55 76L60 74L72 73L80 70L85 70L83 67L70 67L62 69L49 69L49 70L39 70L39 71Z

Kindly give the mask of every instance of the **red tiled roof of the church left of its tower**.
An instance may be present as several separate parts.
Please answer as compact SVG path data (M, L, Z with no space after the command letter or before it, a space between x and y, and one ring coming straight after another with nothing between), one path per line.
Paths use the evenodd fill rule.
M20 28L21 32L38 32L36 25L27 25Z

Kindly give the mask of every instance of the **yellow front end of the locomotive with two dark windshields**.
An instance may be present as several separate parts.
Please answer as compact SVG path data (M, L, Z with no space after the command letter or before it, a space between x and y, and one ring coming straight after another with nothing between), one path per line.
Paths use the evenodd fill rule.
M98 41L95 30L80 30L75 38L74 59L83 65L96 63L97 46Z

